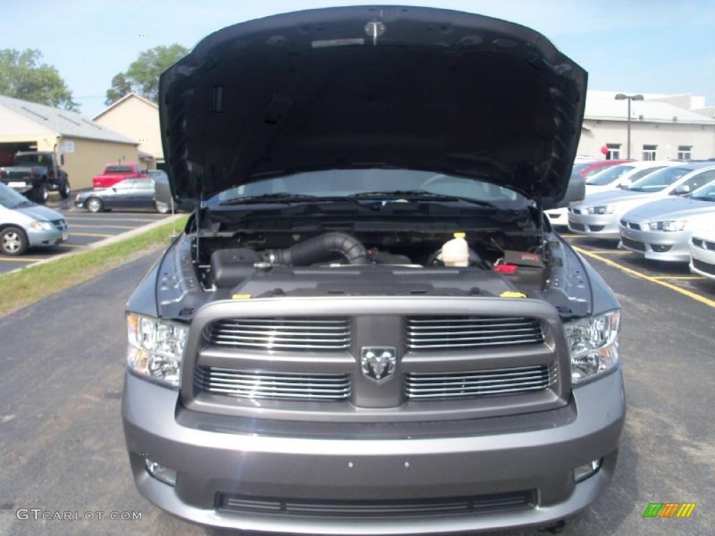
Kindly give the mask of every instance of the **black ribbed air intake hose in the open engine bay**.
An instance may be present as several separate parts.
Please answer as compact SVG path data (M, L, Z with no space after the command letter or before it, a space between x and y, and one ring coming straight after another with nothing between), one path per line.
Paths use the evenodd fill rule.
M293 244L285 249L271 249L268 259L274 264L307 266L327 262L341 254L350 264L370 264L368 252L358 239L344 233L325 233Z

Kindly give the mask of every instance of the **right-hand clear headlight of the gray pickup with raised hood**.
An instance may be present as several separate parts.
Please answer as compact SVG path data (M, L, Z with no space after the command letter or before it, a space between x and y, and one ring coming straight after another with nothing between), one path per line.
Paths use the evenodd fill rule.
M620 311L567 322L563 329L571 352L571 382L583 382L618 366Z

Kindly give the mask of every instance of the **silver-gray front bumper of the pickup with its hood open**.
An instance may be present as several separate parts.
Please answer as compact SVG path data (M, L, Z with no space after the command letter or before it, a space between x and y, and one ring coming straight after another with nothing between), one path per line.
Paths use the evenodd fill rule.
M611 480L625 416L620 369L576 389L565 422L553 412L531 414L541 425L458 437L365 439L358 435L277 437L208 425L212 415L188 412L179 393L127 374L124 435L139 492L186 520L213 527L315 535L409 535L543 525L588 506ZM230 419L230 417L225 417ZM182 420L182 422L185 421ZM260 422L256 423L256 429ZM511 426L511 427L510 427ZM306 424L306 430L310 424ZM149 476L149 458L177 470L172 487ZM573 467L603 458L595 475L574 484ZM235 512L219 507L220 493L262 500L423 500L536 490L536 505L518 510L335 517L280 512Z

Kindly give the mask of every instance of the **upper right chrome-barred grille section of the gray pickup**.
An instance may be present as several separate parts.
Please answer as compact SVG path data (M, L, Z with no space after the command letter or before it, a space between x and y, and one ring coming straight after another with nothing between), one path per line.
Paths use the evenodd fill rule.
M458 349L543 342L538 320L521 317L410 317L409 349Z

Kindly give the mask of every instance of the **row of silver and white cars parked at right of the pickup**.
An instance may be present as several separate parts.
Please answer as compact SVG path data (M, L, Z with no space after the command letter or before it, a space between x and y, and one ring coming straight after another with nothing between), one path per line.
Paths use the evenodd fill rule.
M618 240L646 259L689 262L715 279L714 162L628 162L587 182L585 199L566 211L571 232Z

